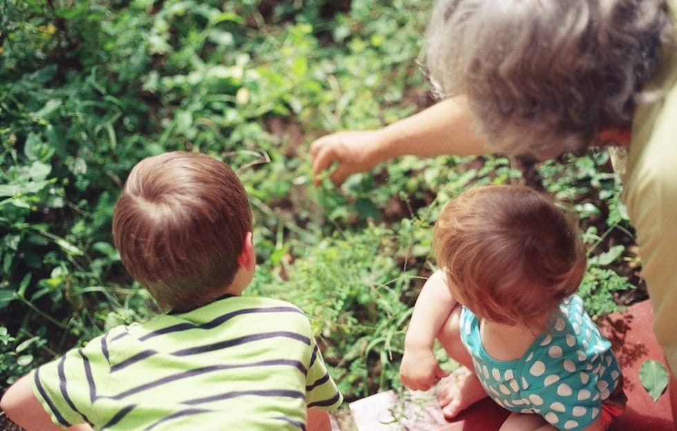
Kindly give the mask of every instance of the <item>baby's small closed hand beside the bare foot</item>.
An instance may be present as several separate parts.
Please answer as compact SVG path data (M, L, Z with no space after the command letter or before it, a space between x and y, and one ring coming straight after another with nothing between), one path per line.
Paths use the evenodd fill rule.
M430 349L404 349L404 356L399 367L399 379L403 385L413 390L428 390L449 375L442 370Z

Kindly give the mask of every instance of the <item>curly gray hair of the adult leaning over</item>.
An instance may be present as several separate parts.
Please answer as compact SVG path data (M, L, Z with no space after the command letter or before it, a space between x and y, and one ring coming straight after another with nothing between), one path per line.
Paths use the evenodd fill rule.
M629 127L675 47L664 0L440 0L427 36L437 95L466 95L489 145L539 158Z

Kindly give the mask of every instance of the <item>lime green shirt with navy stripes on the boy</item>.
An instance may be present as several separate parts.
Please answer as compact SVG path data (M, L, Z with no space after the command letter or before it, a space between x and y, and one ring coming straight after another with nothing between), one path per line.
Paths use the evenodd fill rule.
M305 430L343 401L300 309L231 296L120 326L32 374L55 423L97 430Z

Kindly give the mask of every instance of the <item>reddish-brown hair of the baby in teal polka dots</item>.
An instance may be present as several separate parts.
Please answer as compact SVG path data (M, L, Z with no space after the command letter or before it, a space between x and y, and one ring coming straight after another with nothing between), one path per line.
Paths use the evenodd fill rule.
M530 325L573 294L586 268L578 226L526 186L478 186L442 209L437 263L477 316Z

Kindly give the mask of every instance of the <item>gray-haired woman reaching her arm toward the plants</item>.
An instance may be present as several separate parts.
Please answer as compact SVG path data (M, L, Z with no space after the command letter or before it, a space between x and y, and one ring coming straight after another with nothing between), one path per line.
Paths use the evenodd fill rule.
M528 153L627 146L622 175L654 307L677 372L677 53L675 0L442 0L428 28L435 106L377 131L311 146L330 178L404 154ZM674 414L677 383L671 381ZM448 415L450 413L447 411Z

